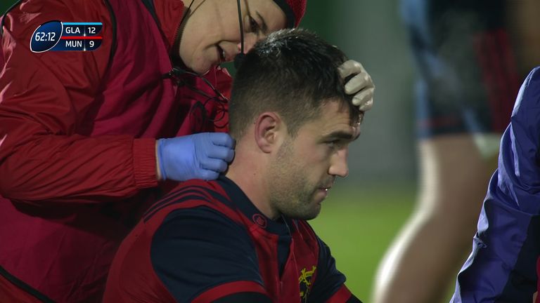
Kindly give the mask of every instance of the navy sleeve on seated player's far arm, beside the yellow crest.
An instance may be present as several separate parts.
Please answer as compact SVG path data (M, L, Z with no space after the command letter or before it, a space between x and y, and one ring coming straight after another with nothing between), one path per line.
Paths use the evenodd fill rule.
M309 292L307 300L309 303L328 301L345 283L345 275L335 268L330 248L321 238L317 237L317 241L319 241L319 264L315 282Z

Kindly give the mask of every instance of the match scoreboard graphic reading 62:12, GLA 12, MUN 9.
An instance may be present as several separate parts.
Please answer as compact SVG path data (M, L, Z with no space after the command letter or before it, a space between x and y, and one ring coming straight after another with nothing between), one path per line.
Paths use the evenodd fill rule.
M30 40L33 53L72 50L89 51L101 46L101 22L46 22L34 31Z

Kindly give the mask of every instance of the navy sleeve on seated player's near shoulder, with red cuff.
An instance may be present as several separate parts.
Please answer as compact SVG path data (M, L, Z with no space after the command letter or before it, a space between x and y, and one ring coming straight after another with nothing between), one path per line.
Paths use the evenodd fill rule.
M226 283L257 283L245 283L238 292L257 292L250 287L264 285L245 227L204 206L170 213L155 232L150 257L177 302L191 302L213 288L220 291L215 288Z

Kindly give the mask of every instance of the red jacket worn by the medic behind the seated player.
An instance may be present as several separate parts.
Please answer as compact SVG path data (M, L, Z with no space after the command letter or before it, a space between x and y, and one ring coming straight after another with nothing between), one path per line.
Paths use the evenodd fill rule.
M153 201L155 138L220 130L200 120L205 98L162 78L183 2L155 0L155 11L160 27L141 1L27 0L4 18L0 274L58 302L99 300L140 202ZM102 22L103 44L31 53L32 33L50 20ZM225 70L205 77L229 93Z

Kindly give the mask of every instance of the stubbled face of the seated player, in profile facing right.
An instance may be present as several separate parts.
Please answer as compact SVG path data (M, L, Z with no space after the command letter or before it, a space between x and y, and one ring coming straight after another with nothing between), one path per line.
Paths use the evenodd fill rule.
M347 109L328 102L318 119L302 126L281 145L269 171L270 203L287 217L310 220L319 215L335 177L349 173L349 143L359 134Z

